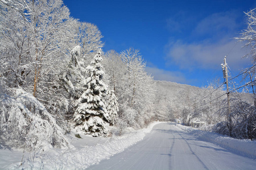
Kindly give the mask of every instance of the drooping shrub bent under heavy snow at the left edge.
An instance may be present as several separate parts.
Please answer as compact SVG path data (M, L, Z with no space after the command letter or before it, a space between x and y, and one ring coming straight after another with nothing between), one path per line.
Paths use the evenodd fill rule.
M13 89L0 95L0 135L15 147L39 151L46 145L68 147L68 139L46 108L31 94Z

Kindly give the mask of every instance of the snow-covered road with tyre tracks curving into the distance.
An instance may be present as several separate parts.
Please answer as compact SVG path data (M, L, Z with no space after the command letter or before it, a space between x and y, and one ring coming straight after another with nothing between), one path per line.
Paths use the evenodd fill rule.
M174 123L154 126L125 151L88 169L255 169L256 160L236 155L177 129Z

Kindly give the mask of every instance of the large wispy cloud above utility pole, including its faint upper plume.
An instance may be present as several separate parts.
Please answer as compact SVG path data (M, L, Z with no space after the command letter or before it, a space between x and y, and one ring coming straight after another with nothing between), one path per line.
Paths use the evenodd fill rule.
M189 37L166 46L167 65L176 64L180 69L220 69L223 58L231 69L242 69L249 59L242 59L247 51L242 42L232 39L239 36L241 23L236 11L220 12L201 19L192 28Z

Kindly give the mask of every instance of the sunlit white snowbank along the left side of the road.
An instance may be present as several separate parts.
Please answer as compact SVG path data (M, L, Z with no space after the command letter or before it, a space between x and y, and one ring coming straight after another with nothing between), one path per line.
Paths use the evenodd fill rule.
M1 149L0 147L0 165L5 169L85 169L90 165L99 163L102 159L109 159L110 156L118 154L125 148L141 141L156 124L159 124L159 122L154 122L145 129L126 131L121 137L93 138L81 135L82 139L79 139L72 135L69 138L71 138L73 148L60 150L45 147L44 152L35 155L33 160L31 160L29 154L26 154L22 166L19 166L22 158L21 151L15 152L16 156L13 150ZM11 155L18 157L15 159L16 161L13 160L13 163L11 163L13 157ZM8 161L2 158L6 158Z

